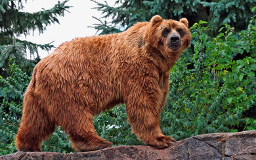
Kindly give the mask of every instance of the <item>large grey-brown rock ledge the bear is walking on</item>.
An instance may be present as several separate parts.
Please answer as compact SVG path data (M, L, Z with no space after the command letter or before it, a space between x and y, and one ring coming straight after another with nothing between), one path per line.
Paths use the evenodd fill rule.
M0 159L256 159L256 130L202 134L181 140L165 150L117 146L69 154L18 151Z

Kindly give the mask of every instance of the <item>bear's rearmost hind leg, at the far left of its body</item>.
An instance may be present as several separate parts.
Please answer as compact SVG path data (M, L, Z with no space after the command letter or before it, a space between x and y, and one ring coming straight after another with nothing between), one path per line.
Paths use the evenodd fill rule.
M55 124L43 112L31 95L25 95L23 115L16 136L16 148L20 151L41 151L41 142L53 133Z

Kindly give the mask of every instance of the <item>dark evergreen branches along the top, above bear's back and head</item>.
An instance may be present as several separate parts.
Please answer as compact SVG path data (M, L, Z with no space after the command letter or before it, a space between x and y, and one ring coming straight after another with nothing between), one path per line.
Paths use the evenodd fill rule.
M207 21L212 33L215 33L223 23L230 24L236 30L242 30L247 27L248 18L252 15L251 9L256 5L255 0L116 0L117 7L110 7L108 3L94 2L98 5L95 9L100 10L104 18L112 18L109 25L101 23L95 26L95 29L102 30L100 34L125 30L136 22L149 21L156 14L174 20L186 17L190 24L199 20Z

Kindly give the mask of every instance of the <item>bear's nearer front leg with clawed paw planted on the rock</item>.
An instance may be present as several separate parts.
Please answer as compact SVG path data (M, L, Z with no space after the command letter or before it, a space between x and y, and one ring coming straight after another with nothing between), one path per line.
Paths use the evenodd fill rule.
M160 112L165 99L158 79L147 79L134 83L129 87L127 97L127 117L132 130L142 142L156 148L167 148L175 141L170 136L164 136L160 129Z

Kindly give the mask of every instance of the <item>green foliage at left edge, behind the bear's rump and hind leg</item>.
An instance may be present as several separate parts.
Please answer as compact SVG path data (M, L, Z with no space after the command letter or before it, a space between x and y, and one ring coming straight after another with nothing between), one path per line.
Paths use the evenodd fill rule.
M0 155L16 151L14 137L22 115L24 91L30 82L30 77L13 62L9 70L10 77L0 75Z

